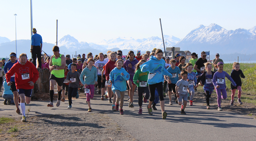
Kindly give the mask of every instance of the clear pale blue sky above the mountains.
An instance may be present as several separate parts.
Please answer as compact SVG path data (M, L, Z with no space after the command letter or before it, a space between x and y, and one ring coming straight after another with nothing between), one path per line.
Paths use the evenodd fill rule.
M0 2L0 36L31 39L30 1ZM199 25L211 23L227 29L256 26L256 1L67 1L33 0L33 27L43 42L56 42L70 34L79 42L100 42L116 37L135 39L161 37L163 33L180 39Z

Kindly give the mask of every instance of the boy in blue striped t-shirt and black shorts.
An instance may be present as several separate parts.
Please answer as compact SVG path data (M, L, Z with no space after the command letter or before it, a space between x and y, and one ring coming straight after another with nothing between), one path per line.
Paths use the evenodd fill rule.
M173 104L173 102L172 102L172 92L175 94L174 100L176 101L176 103L178 103L176 90L175 90L175 87L176 87L175 84L180 79L180 69L179 69L179 67L175 66L175 64L176 64L175 59L170 60L170 64L171 64L171 66L167 68L167 71L170 74L172 74L172 76L171 77L166 77L165 76L165 80L168 81L168 96L169 96L169 100L170 100L169 105L172 105Z

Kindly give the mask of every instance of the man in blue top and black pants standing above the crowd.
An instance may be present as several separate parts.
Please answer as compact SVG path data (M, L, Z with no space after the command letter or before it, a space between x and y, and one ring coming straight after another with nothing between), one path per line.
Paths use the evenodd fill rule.
M38 58L38 67L41 68L41 53L42 53L42 46L43 46L43 41L42 41L42 36L37 34L36 29L33 28L33 33L34 35L31 36L31 49L30 52L32 53L32 59L33 59L33 64L36 66L36 57Z

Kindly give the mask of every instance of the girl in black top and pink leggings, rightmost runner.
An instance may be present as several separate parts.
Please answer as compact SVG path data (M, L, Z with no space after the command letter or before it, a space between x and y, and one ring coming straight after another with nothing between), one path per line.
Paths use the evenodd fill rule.
M230 74L231 78L234 80L234 82L237 84L237 86L234 86L232 83L230 84L230 87L232 89L232 94L231 94L231 101L230 101L230 105L233 106L234 105L234 96L236 94L236 89L238 91L238 104L241 105L243 104L241 101L241 93L242 93L242 81L241 78L245 78L245 76L243 75L242 70L240 69L240 64L238 62L234 62L233 63L233 70Z

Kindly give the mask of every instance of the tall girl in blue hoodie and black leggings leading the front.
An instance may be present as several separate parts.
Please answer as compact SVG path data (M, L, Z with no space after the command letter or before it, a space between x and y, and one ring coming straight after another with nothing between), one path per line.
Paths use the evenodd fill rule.
M150 115L153 114L151 104L155 99L155 89L158 91L158 95L160 98L160 105L162 110L162 119L166 119L167 113L164 111L164 95L163 95L163 81L164 76L172 76L172 74L168 73L168 71L164 68L165 61L162 59L163 51L161 49L157 49L155 52L155 56L150 56L150 60L140 66L142 72L149 71L148 74L148 88L150 91L149 104L147 105L147 110Z

